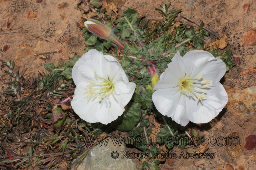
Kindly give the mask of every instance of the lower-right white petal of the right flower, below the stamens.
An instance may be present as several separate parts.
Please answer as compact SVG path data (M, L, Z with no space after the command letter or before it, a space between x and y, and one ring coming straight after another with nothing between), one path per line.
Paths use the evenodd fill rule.
M203 98L203 104L195 98L186 97L187 116L194 123L208 123L216 117L228 102L228 94L222 84L210 87Z

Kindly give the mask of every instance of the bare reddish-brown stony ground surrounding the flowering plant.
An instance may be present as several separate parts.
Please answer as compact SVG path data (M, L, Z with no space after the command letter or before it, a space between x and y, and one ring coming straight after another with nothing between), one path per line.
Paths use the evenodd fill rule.
M214 158L169 159L161 165L162 170L249 170L256 168L256 1L254 0L107 0L104 8L116 14L128 7L134 8L146 19L160 20L161 15L154 8L159 4L172 2L171 9L182 9L182 14L195 21L204 21L205 26L218 35L226 35L232 61L236 64L222 79L229 99L223 111L210 123L190 124L200 129L206 137L239 137L240 147L206 146L206 153ZM16 66L25 77L36 76L44 71L45 63L68 61L72 53L82 55L83 33L78 22L81 12L74 9L77 0L0 0L0 61L16 61ZM194 25L178 16L177 21ZM18 31L18 32L16 32ZM8 33L7 32L16 32ZM210 35L208 43L216 40ZM54 52L50 55L35 53ZM1 64L1 63L0 63ZM18 67L16 67L18 68ZM4 65L1 65L4 74ZM0 85L4 86L4 79ZM174 149L176 155L184 150ZM189 152L189 150L187 150Z

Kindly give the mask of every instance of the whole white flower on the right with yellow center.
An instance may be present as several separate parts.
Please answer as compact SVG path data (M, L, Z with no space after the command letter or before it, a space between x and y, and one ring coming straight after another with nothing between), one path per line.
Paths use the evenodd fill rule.
M207 123L228 102L219 82L225 72L226 64L207 51L189 51L184 57L178 52L154 87L154 105L182 126Z

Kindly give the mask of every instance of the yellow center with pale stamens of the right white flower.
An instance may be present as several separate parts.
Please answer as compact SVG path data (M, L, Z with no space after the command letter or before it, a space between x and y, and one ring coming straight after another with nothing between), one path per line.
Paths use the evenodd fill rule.
M198 78L194 78L194 77L182 78L180 80L179 86L178 86L180 92L182 92L188 96L197 98L197 101L200 100L203 103L202 98L207 97L207 96L203 96L203 94L205 94L205 92L207 92L207 90L205 90L205 89L209 86L212 86L211 84L208 84L208 82L210 82L210 80L200 81L200 79L203 76L204 75L202 74ZM198 88L200 88L200 89L198 90Z

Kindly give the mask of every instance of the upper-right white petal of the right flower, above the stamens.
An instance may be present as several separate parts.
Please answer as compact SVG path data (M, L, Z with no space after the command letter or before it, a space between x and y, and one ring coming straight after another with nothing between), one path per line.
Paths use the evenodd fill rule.
M198 78L203 74L202 81L210 80L208 83L212 86L216 86L226 72L226 64L207 51L189 51L184 55L183 63L186 76Z

